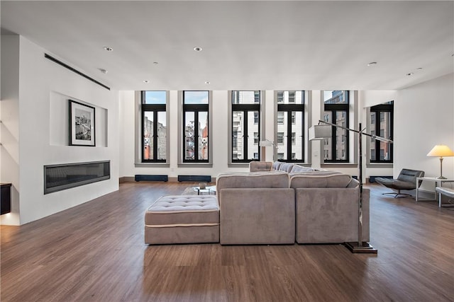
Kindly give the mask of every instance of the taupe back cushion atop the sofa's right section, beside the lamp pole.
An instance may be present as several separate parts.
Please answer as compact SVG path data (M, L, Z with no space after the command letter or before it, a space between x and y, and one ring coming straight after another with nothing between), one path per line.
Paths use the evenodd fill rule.
M290 187L348 187L352 177L343 173L298 173L290 176Z

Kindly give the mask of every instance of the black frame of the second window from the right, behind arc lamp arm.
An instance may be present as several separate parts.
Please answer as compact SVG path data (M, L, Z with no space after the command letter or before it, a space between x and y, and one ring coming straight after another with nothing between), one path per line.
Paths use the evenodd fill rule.
M337 112L345 112L345 126L346 128L349 127L350 125L350 119L349 119L349 113L350 113L350 91L343 91L343 96L345 98L345 103L324 103L324 112L329 111L331 112L332 124L337 124ZM342 126L342 125L341 125ZM350 133L348 130L346 130L346 135L345 135L345 140L341 141L341 145L345 146L345 159L336 159L337 158L337 136L336 136L336 130L337 127L331 126L331 158L334 159L324 159L324 163L348 163L350 161Z

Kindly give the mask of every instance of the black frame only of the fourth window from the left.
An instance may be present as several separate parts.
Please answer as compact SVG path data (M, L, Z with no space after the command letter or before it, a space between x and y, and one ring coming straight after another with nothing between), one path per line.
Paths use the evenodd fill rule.
M279 93L280 91L277 91L277 93ZM276 117L277 115L279 115L279 112L284 112L284 120L285 120L285 116L287 115L287 136L284 135L284 141L285 141L285 137L287 137L287 148L286 148L286 153L287 153L287 158L279 158L279 161L284 161L286 163L301 163L304 161L304 147L305 147L305 137L304 137L304 103L306 102L306 99L305 99L305 96L304 96L304 93L305 91L301 91L301 104L297 104L296 103L296 95L297 95L297 91L293 91L294 92L294 98L293 98L293 102L289 102L287 104L285 103L282 103L282 102L279 102L278 100L276 100L276 103L277 103L277 113L276 113ZM294 124L297 124L296 122L296 115L294 115L294 117L292 117L292 112L301 112L301 159L294 159L292 158L292 153L295 153L292 151L292 146L294 146L295 144L292 144L292 132L294 132L292 130L292 125ZM294 132L296 133L296 132ZM277 141L277 137L276 137L276 141ZM297 141L297 138L296 138L296 135L295 135L295 142ZM285 145L285 143L284 143Z

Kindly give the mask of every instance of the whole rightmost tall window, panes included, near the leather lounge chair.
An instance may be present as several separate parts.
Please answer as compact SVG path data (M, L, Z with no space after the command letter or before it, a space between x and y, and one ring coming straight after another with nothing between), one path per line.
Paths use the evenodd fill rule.
M370 134L392 140L393 115L393 101L371 107ZM371 163L392 163L392 144L371 138L369 151Z

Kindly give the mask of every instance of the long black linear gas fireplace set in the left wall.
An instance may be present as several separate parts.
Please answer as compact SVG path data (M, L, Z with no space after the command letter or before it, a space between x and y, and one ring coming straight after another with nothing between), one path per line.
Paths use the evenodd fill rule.
M44 194L111 178L111 161L44 166Z

